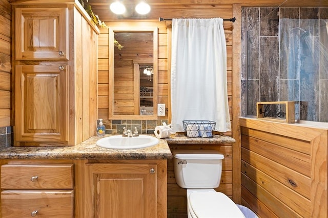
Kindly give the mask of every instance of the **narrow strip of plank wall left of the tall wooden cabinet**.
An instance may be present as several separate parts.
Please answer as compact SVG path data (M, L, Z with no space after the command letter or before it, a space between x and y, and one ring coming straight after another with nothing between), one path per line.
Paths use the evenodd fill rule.
M11 117L11 5L0 1L0 127Z

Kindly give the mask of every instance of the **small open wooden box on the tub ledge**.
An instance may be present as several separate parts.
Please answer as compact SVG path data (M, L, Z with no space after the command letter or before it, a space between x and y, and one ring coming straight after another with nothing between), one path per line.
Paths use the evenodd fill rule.
M284 105L284 107L283 109L279 107L278 111L271 111L269 105ZM256 111L258 119L288 124L295 123L295 102L257 102ZM285 118L280 118L281 115L284 115Z

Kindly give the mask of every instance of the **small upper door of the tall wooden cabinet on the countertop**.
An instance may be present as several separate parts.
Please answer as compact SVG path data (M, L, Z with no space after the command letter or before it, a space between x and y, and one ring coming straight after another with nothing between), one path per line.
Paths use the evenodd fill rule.
M68 60L67 8L16 8L16 60Z

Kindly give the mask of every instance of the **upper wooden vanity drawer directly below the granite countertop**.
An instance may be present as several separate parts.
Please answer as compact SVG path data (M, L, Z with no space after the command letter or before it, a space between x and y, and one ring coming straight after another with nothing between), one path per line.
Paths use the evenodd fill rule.
M73 164L5 164L2 189L73 189Z

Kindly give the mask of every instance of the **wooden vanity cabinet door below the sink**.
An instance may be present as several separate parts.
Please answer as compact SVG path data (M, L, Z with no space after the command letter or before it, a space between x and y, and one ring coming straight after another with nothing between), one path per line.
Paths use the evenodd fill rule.
M95 217L157 217L156 164L96 163Z

